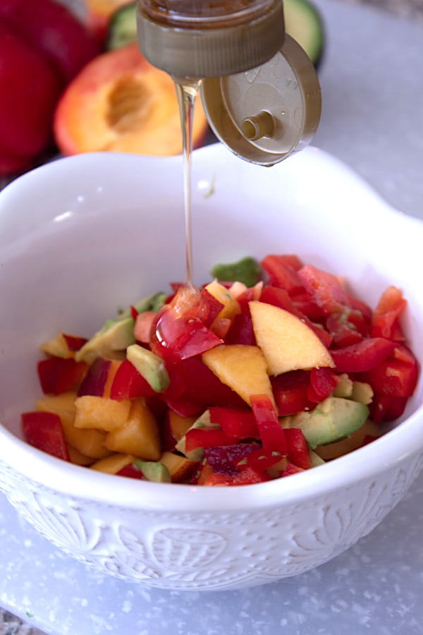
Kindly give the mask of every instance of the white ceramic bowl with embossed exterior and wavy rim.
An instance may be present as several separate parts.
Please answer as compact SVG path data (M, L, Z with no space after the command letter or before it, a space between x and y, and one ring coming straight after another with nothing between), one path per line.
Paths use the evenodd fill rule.
M252 586L330 560L379 524L422 467L422 380L373 444L259 485L198 488L90 473L21 440L39 396L37 347L91 334L143 293L183 279L180 157L60 159L0 194L0 488L52 543L99 571L178 589ZM374 305L388 284L423 360L423 224L308 148L271 169L221 145L193 157L195 279L243 255L298 253Z

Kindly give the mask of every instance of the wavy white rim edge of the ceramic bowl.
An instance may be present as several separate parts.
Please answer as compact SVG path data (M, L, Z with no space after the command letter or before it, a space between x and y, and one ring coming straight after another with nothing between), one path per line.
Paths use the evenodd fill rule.
M214 162L228 159L231 153L221 144L202 147L195 150L196 156L203 155ZM316 153L318 153L316 155ZM334 169L337 175L353 180L360 186L367 200L375 203L375 214L393 214L409 223L410 229L419 226L423 236L423 224L419 219L403 214L391 207L381 196L357 176L353 170L328 152L315 147L308 147L300 153L306 160L318 157L321 167ZM179 157L140 157L140 155L123 155L120 153L87 153L74 157L61 158L56 161L54 169L62 169L66 164L87 166L95 158L102 165L123 162L139 166L142 162L166 162L168 165L180 162ZM290 162L297 157L290 157ZM231 159L229 159L231 160ZM236 159L237 161L239 159ZM298 160L298 159L297 159ZM21 183L30 183L38 174L54 164L47 164L21 176L10 183L0 194L0 212L2 202L13 198L18 193ZM25 181L23 181L25 179ZM421 438L420 444L416 439ZM152 483L135 479L126 479L125 487L121 479L113 475L90 471L90 478L83 478L87 468L66 464L54 456L30 447L26 442L9 432L0 423L0 464L11 468L23 477L47 490L61 492L70 498L85 499L115 507L128 507L134 510L157 510L166 512L239 512L241 510L261 509L275 504L292 504L307 499L323 496L339 488L353 487L362 480L376 477L403 463L413 460L423 447L423 404L400 423L397 428L386 433L374 443L345 455L336 461L296 474L295 478L271 480L256 485L238 485L231 488L204 488L197 485L179 485L176 483ZM377 448L377 450L376 450ZM30 449L30 452L28 452ZM1 471L1 469L0 469ZM353 476L352 476L353 475ZM75 486L79 487L76 488ZM232 490L235 488L235 492ZM77 489L82 490L78 491ZM7 493L7 484L5 487ZM182 492L190 492L190 496Z

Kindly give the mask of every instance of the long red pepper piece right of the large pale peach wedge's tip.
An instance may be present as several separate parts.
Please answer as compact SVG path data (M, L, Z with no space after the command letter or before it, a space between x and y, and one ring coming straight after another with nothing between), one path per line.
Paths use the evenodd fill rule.
M357 344L331 350L338 373L365 373L393 353L395 344L384 337L367 337Z

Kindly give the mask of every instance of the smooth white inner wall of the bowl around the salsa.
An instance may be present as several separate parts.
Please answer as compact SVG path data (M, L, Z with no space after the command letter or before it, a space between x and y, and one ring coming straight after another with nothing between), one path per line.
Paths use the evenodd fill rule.
M315 148L264 169L218 144L195 151L192 169L195 282L207 281L216 262L298 253L345 275L372 306L396 284L409 301L405 331L422 361L421 222L391 209L348 167ZM40 394L35 364L42 341L59 330L90 336L119 306L183 280L184 267L180 157L79 155L11 183L0 195L4 427L20 437L20 413ZM420 379L402 418L415 413L414 423L407 421L415 433L396 440L398 446L404 439L404 452L415 449L414 434L423 437L422 397ZM384 442L394 457L392 446ZM0 458L13 460L3 447ZM22 444L19 451L25 452Z

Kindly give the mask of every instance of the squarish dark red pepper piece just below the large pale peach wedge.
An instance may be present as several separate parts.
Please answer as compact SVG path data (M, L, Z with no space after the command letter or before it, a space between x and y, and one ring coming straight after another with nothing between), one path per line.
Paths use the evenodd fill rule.
M271 377L271 386L279 416L286 416L314 408L315 402L308 397L309 371L292 370Z

